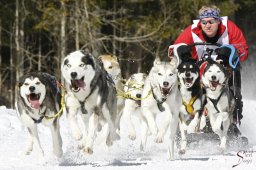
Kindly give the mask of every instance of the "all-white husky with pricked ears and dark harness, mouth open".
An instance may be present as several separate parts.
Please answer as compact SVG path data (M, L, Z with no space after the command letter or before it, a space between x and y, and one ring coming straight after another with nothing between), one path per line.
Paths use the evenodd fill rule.
M174 154L174 138L179 121L179 108L181 107L181 95L178 90L176 58L172 58L171 62L160 61L156 58L154 65L145 81L142 93L141 108L142 114L146 121L142 122L142 143L141 149L145 149L147 140L147 130L153 135L157 135L156 142L163 141L163 136L170 125L170 144L169 158L173 159ZM152 95L146 98L148 93ZM156 116L160 113L164 114L161 127L157 127Z

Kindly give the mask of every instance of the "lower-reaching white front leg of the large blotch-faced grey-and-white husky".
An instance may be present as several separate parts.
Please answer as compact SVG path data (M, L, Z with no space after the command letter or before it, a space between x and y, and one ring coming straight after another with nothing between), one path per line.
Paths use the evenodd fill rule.
M92 146L95 138L95 132L96 132L96 129L98 128L98 123L99 123L99 116L93 113L89 118L88 135L86 138L86 145L84 147L84 152L87 154L93 153Z

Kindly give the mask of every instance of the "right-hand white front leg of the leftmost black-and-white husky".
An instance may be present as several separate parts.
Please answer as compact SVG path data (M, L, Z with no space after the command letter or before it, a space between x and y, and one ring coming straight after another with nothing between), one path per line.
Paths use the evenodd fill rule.
M50 126L52 133L52 144L53 144L53 153L58 158L60 158L63 154L62 151L62 139L60 136L60 122L59 119L55 119L53 124Z

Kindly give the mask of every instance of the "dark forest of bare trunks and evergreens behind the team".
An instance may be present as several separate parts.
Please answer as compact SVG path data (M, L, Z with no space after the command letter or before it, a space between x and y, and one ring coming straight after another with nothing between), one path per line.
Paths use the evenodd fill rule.
M208 4L243 31L249 58L242 64L242 88L246 98L255 98L255 0L1 0L0 105L13 108L17 81L27 72L61 80L62 59L78 49L116 55L124 78L148 73Z

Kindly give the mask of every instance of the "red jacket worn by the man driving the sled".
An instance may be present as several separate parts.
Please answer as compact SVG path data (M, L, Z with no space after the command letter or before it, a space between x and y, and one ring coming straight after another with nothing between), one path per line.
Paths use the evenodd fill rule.
M240 61L244 61L248 57L248 46L246 44L244 35L243 35L242 31L232 21L228 20L227 26L228 26L229 44L239 44L239 46L235 45L235 48L238 50L239 54L242 54L245 52L245 54L243 56L241 56L241 58L240 58ZM220 33L220 35L222 35L226 29L226 26L223 24L220 24L219 29L220 29L219 33ZM199 22L197 27L195 27L193 30L191 30L191 25L188 26L179 35L179 37L175 40L174 44L179 44L179 43L192 44L192 43L194 43L191 31L193 31L193 33L195 33L202 41L205 42L203 33L202 33L202 27ZM195 47L192 48L192 57L194 59L198 59Z

